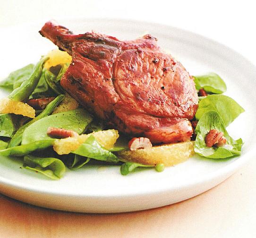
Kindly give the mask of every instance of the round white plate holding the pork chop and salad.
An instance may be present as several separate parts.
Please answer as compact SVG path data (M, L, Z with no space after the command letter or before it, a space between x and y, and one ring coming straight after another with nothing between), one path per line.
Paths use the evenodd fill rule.
M228 128L235 139L242 137L242 155L229 160L194 157L162 173L142 170L122 176L119 166L86 166L68 170L52 181L26 170L21 163L0 158L0 192L26 203L76 212L129 212L160 207L196 196L234 173L256 147L256 68L229 48L197 34L170 26L117 19L83 19L59 22L75 33L95 30L120 39L153 34L158 43L182 62L191 75L213 71L227 83L231 96L246 112ZM2 29L1 71L5 77L17 68L36 62L55 46L38 34L43 26ZM4 96L1 91L1 97Z

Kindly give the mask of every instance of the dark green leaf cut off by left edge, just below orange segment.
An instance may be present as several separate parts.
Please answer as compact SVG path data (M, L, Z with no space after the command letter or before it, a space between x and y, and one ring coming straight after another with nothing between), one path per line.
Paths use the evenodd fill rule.
M0 114L0 136L12 137L18 128L17 116Z

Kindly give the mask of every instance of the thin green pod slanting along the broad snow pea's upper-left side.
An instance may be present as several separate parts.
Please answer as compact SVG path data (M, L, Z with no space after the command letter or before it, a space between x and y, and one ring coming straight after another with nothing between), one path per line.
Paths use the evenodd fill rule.
M63 98L64 98L64 95L59 95L53 101L51 101L37 117L35 117L31 121L29 121L28 123L23 125L22 127L19 127L17 132L14 134L14 136L12 136L12 138L8 144L8 147L13 147L13 146L19 145L21 143L22 136L23 136L25 129L27 127L29 127L30 125L32 125L34 122L36 122L44 117L49 116L51 114L51 112L60 104L60 102L63 100Z

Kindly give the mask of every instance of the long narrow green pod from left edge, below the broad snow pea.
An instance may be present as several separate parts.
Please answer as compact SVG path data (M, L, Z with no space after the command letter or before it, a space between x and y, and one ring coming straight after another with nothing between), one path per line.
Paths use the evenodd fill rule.
M14 146L0 150L0 155L3 156L23 156L36 150L45 149L53 144L55 139L39 140L29 144Z

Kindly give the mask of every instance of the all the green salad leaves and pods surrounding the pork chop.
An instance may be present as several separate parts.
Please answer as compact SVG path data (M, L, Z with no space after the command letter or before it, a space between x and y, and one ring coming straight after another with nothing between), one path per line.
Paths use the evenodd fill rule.
M106 149L92 134L84 143L78 144L79 147L71 153L57 154L52 145L59 139L47 135L49 127L70 129L80 135L102 131L105 125L102 120L93 118L82 108L52 114L64 98L65 91L60 85L60 79L69 64L46 69L43 65L47 59L42 57L36 65L29 64L10 73L0 83L0 87L12 91L8 97L15 101L26 102L32 98L55 97L44 110L37 112L34 119L10 113L0 114L0 155L23 157L25 168L52 179L62 178L66 167L78 169L90 160L115 164L122 162L120 166L122 175L127 175L138 167L155 167L159 172L164 170L162 163L153 166L119 159L115 152L128 149L129 139L125 136L119 137L111 149ZM230 158L241 154L242 139L232 139L226 127L244 112L244 109L230 97L216 95L226 92L227 89L226 84L217 74L194 76L194 82L197 90L203 88L211 94L198 97L199 104L195 115L195 119L198 120L195 129L195 152L213 159ZM223 133L226 144L206 146L205 137L213 129Z

